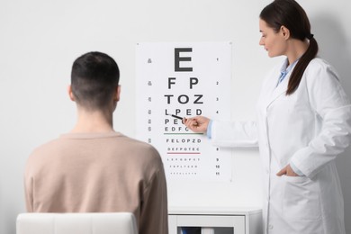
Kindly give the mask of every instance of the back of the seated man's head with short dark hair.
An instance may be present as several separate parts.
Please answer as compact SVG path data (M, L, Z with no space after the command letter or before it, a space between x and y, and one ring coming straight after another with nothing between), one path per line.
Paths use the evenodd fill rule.
M108 106L119 84L117 63L101 52L89 52L76 58L72 66L71 87L75 101L87 110Z

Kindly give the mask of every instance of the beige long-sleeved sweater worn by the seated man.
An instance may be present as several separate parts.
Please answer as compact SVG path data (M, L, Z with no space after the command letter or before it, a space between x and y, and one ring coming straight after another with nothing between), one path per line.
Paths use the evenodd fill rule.
M24 184L28 211L131 211L139 233L168 233L161 157L121 133L70 133L36 148Z

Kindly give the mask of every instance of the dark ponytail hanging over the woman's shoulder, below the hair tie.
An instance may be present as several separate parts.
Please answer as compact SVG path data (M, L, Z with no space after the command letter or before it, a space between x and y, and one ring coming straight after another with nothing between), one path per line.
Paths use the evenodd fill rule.
M309 65L313 58L316 58L318 52L318 43L317 40L313 38L313 35L310 36L310 46L306 52L302 55L302 58L299 59L296 66L293 68L292 76L290 76L288 89L286 90L286 95L293 94L295 90L300 85L302 80L302 75Z

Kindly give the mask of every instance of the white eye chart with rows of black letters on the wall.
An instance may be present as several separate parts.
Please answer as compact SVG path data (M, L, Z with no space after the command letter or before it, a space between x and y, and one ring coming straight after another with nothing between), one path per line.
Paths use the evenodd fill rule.
M167 179L231 180L231 151L181 120L230 119L230 66L231 42L137 44L136 137L157 148Z

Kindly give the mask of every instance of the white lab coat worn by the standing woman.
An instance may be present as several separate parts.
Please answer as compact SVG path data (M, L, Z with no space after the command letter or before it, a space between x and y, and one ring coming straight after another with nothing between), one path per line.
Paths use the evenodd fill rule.
M298 89L286 95L288 74L266 77L257 121L213 121L211 141L222 147L259 146L265 233L345 234L344 202L335 158L349 146L351 106L334 68L314 58ZM290 162L305 176L277 176ZM249 169L249 168L247 168Z

